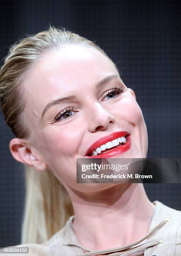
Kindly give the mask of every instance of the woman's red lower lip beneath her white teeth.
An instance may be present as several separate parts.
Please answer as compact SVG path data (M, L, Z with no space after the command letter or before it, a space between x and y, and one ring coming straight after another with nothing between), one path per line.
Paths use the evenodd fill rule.
M117 156L119 154L124 153L125 151L129 150L131 147L131 138L130 135L126 138L126 143L121 145L113 150L107 151L106 153L99 154L97 156L86 156L86 158L110 158L113 156Z

